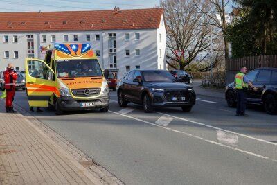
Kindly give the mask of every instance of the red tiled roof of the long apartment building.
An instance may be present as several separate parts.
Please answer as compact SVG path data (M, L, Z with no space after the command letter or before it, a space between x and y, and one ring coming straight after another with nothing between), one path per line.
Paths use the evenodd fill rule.
M0 32L159 28L162 8L66 12L1 12Z

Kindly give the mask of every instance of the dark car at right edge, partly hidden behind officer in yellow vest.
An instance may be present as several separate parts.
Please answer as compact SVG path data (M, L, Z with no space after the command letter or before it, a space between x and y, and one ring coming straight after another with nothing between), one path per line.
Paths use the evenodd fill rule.
M247 90L247 103L263 105L269 114L277 114L277 68L258 68L247 73L247 77L258 91ZM236 106L234 83L227 85L225 91L229 107Z

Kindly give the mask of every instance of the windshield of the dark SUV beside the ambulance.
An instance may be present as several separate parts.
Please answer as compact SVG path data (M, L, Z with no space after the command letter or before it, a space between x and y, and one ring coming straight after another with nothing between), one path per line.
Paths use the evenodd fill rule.
M176 78L168 71L143 71L145 82L176 82Z

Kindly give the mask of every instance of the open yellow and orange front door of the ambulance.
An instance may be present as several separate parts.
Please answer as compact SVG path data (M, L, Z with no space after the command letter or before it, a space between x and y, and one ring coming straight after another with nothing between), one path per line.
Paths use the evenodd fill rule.
M32 107L48 107L53 94L58 95L54 71L43 60L27 58L26 89L29 105Z

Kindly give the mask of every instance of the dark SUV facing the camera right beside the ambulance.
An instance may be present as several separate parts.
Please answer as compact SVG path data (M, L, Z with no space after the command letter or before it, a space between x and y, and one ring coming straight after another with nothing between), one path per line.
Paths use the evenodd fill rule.
M181 107L190 112L195 105L193 87L177 82L168 71L134 70L118 83L118 104L126 107L129 102L143 105L145 112L153 107Z

